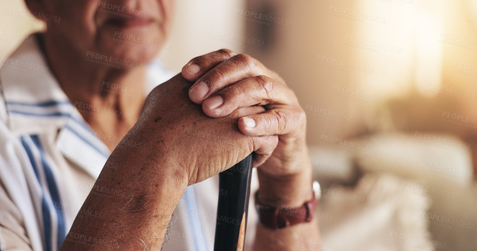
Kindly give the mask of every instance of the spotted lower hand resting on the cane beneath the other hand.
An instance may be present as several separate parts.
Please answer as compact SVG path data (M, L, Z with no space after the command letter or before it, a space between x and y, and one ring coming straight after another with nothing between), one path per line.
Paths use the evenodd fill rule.
M258 163L270 156L277 136L247 136L237 128L239 117L263 112L262 107L248 106L223 118L210 118L189 100L191 85L177 74L149 93L139 120L126 135L150 146L150 156L144 158L167 160L167 165L172 160L173 168L185 173L187 185L192 185L227 170L252 151Z

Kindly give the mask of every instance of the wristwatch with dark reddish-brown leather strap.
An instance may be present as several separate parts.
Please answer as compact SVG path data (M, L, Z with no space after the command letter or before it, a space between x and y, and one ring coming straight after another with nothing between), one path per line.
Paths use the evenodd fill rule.
M313 220L313 212L316 208L317 196L315 194L321 195L320 184L317 181L313 182L312 193L313 198L311 201L303 203L300 207L286 205L271 207L259 203L257 191L255 193L255 208L259 215L259 222L271 229L284 228L301 222L310 222Z

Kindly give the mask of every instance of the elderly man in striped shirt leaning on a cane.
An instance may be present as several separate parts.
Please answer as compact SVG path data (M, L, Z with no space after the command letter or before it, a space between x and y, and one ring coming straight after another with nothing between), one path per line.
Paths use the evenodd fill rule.
M217 174L251 152L258 207L312 209L311 169L293 161L306 118L273 71L218 50L170 78L155 57L171 0L26 3L55 18L0 71L15 87L0 95L2 251L212 250ZM249 221L251 248L316 248L300 213Z

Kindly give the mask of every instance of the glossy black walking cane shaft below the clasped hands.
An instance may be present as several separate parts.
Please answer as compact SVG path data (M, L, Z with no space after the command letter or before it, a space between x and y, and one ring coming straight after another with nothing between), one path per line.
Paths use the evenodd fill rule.
M214 251L242 251L247 226L252 154L218 174L217 225Z

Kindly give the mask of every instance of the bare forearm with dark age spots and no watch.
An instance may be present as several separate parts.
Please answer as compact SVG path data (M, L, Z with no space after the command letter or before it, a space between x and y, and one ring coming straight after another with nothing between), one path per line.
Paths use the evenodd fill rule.
M159 250L187 186L187 177L162 158L137 148L116 148L60 251ZM102 191L113 192L106 197Z

